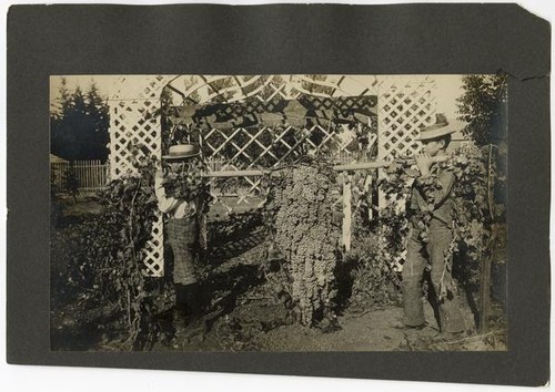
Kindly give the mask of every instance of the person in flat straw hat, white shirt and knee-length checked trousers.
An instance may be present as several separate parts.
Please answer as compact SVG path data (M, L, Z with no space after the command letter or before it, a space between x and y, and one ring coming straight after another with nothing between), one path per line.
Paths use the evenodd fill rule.
M196 145L182 144L170 147L162 156L173 172L183 169L183 165L200 155ZM168 196L164 188L162 168L157 171L154 180L159 208L168 215L167 235L173 254L173 282L175 286L175 307L173 323L175 332L184 328L191 318L200 314L199 271L195 267L195 254L199 238L194 200Z

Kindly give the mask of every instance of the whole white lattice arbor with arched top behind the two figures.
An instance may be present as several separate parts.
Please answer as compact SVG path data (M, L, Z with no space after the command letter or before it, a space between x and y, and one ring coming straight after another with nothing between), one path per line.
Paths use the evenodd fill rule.
M120 85L110 101L112 178L134 173L130 142L158 157L171 144L199 143L211 169L228 172L275 169L313 154L341 163L389 158L416 152L418 128L435 112L435 84L425 76L142 75ZM149 115L160 109L162 116ZM232 190L214 182L216 205L232 212L263 200L260 176L234 182ZM145 265L161 276L161 218L153 231Z

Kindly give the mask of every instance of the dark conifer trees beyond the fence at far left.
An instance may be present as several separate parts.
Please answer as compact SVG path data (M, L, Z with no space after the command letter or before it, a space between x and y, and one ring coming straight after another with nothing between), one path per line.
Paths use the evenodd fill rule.
M50 113L51 152L68 161L108 158L109 106L92 83L70 92L62 79L60 97Z

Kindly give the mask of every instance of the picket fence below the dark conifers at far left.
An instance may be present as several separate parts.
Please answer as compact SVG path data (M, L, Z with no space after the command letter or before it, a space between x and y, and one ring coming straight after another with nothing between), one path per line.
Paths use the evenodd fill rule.
M71 168L69 162L50 163L50 174L52 183L63 192L63 177L67 171ZM73 171L79 179L79 194L93 195L103 189L107 184L107 166L100 159L75 161Z

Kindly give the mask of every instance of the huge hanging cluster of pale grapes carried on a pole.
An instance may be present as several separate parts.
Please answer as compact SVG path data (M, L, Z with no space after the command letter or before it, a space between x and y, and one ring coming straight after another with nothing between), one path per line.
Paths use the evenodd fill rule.
M334 292L340 230L333 224L333 187L321 168L301 166L285 173L275 193L275 245L287 260L291 295L306 326L330 308Z

